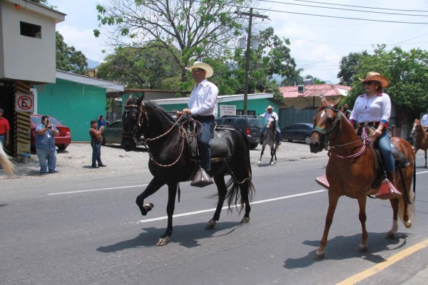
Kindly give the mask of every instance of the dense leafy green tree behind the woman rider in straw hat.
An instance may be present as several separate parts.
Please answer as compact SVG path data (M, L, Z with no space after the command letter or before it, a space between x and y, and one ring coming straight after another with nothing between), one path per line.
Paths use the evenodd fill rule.
M347 103L352 107L355 98L364 93L358 78L365 78L368 72L376 71L386 76L389 87L385 90L397 110L397 125L411 123L419 113L428 107L428 52L419 48L403 51L396 46L391 51L384 44L377 45L373 54L360 53L357 65L350 65L355 71L350 83L352 90Z

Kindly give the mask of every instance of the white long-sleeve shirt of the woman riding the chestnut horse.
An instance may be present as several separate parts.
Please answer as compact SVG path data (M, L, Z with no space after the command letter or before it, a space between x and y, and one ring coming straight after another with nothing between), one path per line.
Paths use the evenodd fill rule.
M372 98L362 94L355 100L350 120L357 123L389 122L391 116L391 99L387 93L377 93ZM385 125L386 127L387 125Z

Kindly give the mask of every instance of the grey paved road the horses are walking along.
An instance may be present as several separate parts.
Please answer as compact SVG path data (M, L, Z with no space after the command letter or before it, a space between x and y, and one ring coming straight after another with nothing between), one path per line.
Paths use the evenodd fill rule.
M181 216L166 247L155 246L165 231L165 188L148 199L155 208L146 217L134 203L151 179L147 172L2 180L0 259L6 262L0 263L0 284L337 284L428 238L428 175L418 167L414 227L400 223L397 239L384 239L391 226L389 203L370 200L369 252L361 254L357 202L344 197L327 258L313 261L327 209L327 192L313 179L326 162L324 157L253 166L251 222L241 225L236 212L223 211L213 231L204 227L215 202L207 196L215 188L182 183L175 209ZM418 282L427 254L426 247L420 249L359 284Z

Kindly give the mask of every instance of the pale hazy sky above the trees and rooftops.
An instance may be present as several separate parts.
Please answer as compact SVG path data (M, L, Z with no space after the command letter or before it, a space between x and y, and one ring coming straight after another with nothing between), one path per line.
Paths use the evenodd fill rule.
M106 40L95 38L98 28L96 4L107 0L49 0L56 10L66 14L56 24L68 46L98 62L108 51ZM253 12L268 16L253 18L253 32L272 26L275 34L289 38L291 56L302 76L338 83L340 59L350 53L373 51L386 44L404 51L421 48L428 51L427 0L260 0ZM328 2L328 4L327 4ZM238 46L238 38L236 39Z

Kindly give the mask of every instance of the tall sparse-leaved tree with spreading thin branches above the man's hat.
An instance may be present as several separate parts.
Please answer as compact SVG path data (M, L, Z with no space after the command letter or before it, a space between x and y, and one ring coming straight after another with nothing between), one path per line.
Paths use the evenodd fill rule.
M239 12L252 1L117 0L96 9L99 26L107 29L113 46L144 48L156 43L152 47L170 53L185 82L185 66L195 58L220 56L230 40L240 34L247 20ZM100 33L94 30L95 36Z

